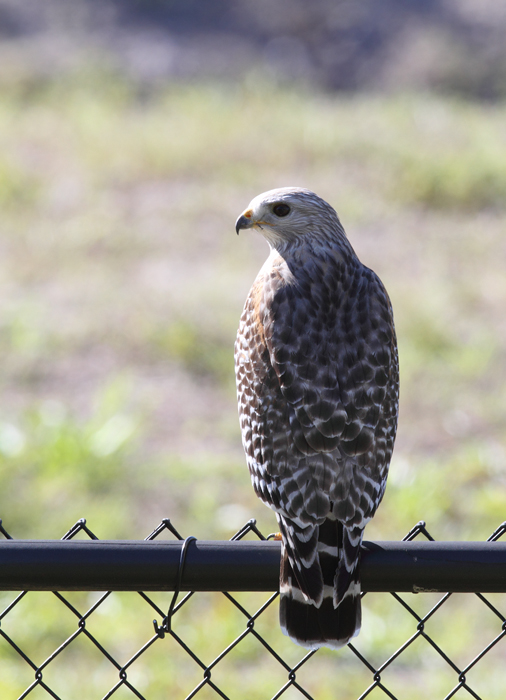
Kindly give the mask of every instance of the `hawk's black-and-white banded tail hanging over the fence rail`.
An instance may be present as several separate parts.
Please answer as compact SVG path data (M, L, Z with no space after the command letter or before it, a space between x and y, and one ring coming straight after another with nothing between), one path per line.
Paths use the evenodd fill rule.
M336 520L304 530L278 521L283 538L281 629L307 649L339 649L360 630L363 530Z

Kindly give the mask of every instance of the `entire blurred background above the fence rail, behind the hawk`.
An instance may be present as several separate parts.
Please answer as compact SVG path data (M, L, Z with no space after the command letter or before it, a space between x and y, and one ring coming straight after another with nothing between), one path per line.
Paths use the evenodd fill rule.
M505 31L495 0L0 0L14 537L275 529L233 370L268 249L234 222L286 185L337 209L394 307L400 424L367 538L505 519Z

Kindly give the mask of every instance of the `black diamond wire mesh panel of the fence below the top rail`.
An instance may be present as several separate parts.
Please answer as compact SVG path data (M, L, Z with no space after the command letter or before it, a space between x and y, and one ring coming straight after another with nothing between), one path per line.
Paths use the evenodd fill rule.
M184 539L168 519L146 539L160 536ZM62 539L74 537L97 539L84 519ZM266 539L254 521L231 539L244 537ZM404 540L419 537L433 540L423 522ZM357 640L309 653L281 635L277 596L2 593L0 696L504 698L506 594L368 593Z

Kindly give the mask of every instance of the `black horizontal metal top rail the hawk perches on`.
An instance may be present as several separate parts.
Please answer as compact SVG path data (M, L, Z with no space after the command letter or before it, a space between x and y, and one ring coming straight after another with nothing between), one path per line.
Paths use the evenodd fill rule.
M0 541L0 590L172 591L183 542ZM276 591L275 541L188 543L182 591ZM362 590L506 592L506 542L364 542Z

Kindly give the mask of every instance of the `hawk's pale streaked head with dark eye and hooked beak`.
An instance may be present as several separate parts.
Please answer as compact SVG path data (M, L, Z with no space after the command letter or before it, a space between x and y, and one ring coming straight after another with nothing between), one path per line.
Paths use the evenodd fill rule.
M344 236L335 210L314 192L300 187L269 190L251 200L235 223L257 228L273 248L286 248L308 234L315 238Z

